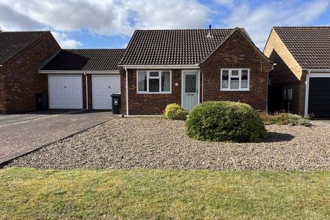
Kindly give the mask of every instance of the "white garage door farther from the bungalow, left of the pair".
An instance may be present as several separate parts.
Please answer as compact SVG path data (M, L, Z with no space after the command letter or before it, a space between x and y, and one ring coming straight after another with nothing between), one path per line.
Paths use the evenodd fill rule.
M83 109L83 80L78 76L48 78L50 109Z

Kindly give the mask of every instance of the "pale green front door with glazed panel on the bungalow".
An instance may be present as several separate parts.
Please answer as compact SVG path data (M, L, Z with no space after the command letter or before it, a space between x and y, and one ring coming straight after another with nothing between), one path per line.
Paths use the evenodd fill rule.
M199 104L199 71L182 71L182 107L190 111Z

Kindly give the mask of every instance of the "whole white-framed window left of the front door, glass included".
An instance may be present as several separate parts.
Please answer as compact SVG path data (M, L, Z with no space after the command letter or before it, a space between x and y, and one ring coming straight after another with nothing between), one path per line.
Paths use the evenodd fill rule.
M170 94L172 72L170 70L137 70L137 94Z

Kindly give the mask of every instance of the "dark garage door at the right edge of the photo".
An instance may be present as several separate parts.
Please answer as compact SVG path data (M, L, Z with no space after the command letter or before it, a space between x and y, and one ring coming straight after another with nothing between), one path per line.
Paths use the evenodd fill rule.
M308 113L330 118L330 78L309 78Z

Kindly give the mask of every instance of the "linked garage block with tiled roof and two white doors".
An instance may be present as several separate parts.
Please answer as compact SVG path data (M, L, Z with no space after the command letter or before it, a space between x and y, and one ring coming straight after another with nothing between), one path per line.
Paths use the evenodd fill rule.
M48 78L50 109L111 109L120 93L124 49L61 50L39 69Z

